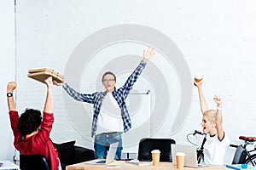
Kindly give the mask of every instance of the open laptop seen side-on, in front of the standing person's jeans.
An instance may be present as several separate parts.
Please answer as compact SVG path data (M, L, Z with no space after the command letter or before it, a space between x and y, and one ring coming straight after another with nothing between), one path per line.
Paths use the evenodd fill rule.
M107 159L95 159L91 161L86 161L86 164L93 164L93 165L108 165L109 163L114 161L114 156L117 150L119 143L110 144Z

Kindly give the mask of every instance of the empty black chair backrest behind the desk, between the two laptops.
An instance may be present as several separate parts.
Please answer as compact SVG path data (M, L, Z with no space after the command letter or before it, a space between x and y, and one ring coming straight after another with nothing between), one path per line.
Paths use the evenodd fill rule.
M151 150L160 150L160 161L172 161L171 144L175 144L173 139L153 139L144 138L139 142L139 161L152 161Z

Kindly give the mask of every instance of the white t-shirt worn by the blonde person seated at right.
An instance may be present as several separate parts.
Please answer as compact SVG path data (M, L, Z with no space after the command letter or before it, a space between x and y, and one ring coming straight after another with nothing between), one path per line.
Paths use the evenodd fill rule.
M224 165L224 155L230 146L230 139L224 134L224 139L219 141L218 135L211 137L207 134L204 144L205 163L209 165Z

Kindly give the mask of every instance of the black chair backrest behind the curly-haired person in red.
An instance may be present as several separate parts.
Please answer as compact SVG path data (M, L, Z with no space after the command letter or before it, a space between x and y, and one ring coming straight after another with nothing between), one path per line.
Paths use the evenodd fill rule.
M49 162L44 156L20 154L20 170L50 170Z

